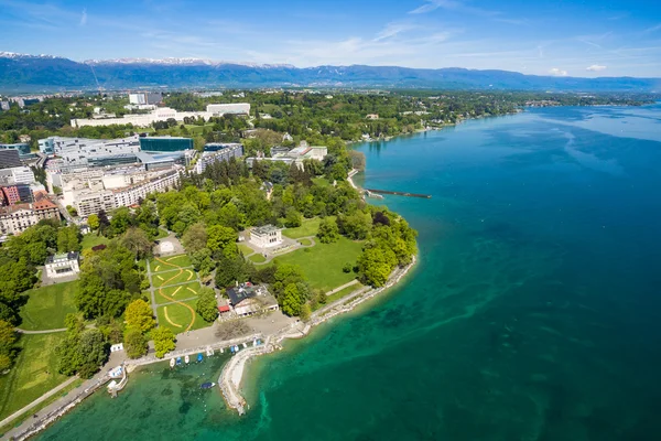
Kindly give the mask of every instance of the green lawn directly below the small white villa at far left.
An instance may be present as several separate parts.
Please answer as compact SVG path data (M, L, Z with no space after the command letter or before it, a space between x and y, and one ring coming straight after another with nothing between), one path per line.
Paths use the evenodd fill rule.
M75 313L74 295L78 281L51 284L26 291L28 303L21 308L20 327L26 331L56 330L64 326L66 314Z

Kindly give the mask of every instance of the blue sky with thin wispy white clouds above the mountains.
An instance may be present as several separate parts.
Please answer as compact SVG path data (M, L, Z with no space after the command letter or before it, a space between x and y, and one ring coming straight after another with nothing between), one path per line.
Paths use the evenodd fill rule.
M659 77L660 1L0 0L0 51Z

